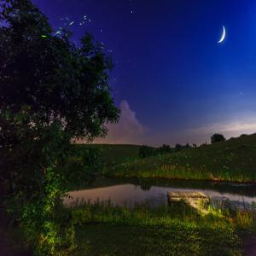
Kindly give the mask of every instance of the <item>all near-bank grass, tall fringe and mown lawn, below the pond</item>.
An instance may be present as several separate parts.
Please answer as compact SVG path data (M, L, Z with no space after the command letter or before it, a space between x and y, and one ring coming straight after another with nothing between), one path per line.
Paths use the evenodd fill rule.
M255 227L250 211L210 211L185 203L133 209L94 204L72 209L80 255L242 255Z

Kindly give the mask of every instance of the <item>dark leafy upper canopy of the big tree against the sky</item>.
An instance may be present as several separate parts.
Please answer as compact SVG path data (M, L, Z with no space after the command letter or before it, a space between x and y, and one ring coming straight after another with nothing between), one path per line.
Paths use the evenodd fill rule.
M28 0L9 1L0 16L0 108L26 108L28 121L61 122L75 137L96 137L117 120L108 86L111 61L89 34L79 48L52 36L47 18ZM42 37L46 36L46 38Z

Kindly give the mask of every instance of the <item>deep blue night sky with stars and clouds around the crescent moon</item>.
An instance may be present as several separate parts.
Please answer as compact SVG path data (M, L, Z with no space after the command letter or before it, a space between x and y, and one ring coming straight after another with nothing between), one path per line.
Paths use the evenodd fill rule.
M91 32L112 55L122 114L104 142L205 143L214 132L256 131L256 1L32 2L55 32L67 27L74 41Z

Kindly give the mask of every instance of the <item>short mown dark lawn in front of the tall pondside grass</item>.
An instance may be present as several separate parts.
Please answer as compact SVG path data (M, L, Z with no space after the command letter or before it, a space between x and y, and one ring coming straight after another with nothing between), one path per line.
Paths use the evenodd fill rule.
M241 255L232 230L88 224L77 236L84 255Z

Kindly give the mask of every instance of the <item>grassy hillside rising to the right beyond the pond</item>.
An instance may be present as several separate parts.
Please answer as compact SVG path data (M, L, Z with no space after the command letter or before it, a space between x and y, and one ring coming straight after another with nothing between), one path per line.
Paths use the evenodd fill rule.
M146 159L123 161L109 177L168 177L256 182L256 134Z

